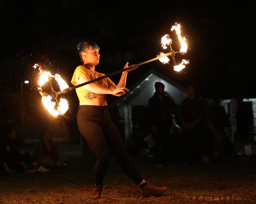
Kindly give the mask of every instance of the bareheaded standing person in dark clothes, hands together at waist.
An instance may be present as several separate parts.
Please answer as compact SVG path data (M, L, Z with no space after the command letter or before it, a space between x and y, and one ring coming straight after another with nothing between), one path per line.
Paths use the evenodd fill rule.
M186 165L201 163L201 145L204 116L204 103L195 95L193 86L187 88L188 97L181 102L179 117L182 121L182 144Z

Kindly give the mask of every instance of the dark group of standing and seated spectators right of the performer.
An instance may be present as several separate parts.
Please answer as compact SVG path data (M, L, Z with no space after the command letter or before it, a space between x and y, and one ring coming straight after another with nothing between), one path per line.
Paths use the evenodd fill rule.
M244 103L238 104L237 131L231 137L229 115L218 98L199 97L195 87L189 85L187 97L177 105L171 93L164 91L164 84L156 82L154 86L154 95L148 102L148 135L144 135L144 140L150 141L149 146L154 144L145 149L142 142L134 140L134 146L140 151L144 148L144 154L136 156L153 157L157 167L175 162L184 166L225 163L236 160L239 155L248 157L245 148L255 142L249 141L249 126L253 124Z

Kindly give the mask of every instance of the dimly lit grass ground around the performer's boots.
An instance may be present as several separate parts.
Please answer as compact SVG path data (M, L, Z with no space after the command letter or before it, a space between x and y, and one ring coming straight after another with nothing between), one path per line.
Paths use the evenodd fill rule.
M162 196L143 198L141 190L111 157L100 200L93 191L94 157L71 157L64 169L0 176L0 204L256 203L256 159L224 164L155 167L150 158L132 158L138 171Z

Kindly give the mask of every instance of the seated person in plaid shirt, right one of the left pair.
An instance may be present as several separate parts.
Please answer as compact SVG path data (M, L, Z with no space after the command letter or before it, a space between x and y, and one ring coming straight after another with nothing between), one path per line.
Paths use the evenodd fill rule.
M52 140L52 135L48 130L43 132L41 140L36 144L33 155L39 164L47 167L61 167L66 165L65 162L68 160L67 156L59 155L59 151Z

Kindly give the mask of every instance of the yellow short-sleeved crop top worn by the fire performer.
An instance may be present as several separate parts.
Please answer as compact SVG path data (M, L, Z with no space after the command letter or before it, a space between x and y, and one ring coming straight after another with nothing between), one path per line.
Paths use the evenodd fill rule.
M98 73L98 74L100 74L101 77L106 75L106 74L102 74L102 73ZM94 75L92 75L92 72L89 69L87 69L84 65L80 65L80 66L76 67L75 72L72 77L72 80L71 80L71 83L75 86L78 85L77 82L78 82L79 78L82 78L82 77L88 77L90 80L95 79ZM98 81L96 81L96 83L98 83ZM110 78L107 77L105 79L102 79L101 85L100 84L98 84L98 85L105 87L105 88L109 88L111 84L114 84L113 81L111 81ZM80 103L85 102L85 101L95 100L98 98L106 98L105 94L93 93L89 90L86 90L84 88L84 86L77 88L76 94L78 95Z

